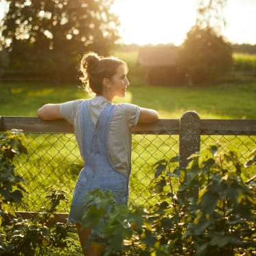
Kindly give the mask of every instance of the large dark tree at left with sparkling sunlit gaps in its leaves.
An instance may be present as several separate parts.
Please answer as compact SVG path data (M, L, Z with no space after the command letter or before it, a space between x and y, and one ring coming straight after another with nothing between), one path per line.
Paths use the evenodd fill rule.
M3 44L12 67L63 76L75 71L84 51L108 54L119 38L111 4L113 0L10 1Z

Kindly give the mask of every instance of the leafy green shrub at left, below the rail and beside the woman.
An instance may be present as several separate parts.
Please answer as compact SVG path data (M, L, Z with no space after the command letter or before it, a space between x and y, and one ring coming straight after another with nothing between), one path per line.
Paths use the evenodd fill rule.
M65 191L51 189L43 209L45 213L38 214L33 220L15 218L12 205L21 202L25 192L23 179L16 174L14 165L16 156L27 152L23 132L4 132L0 150L1 220L6 216L13 218L10 224L3 222L0 226L0 255L78 255L80 250L73 246L78 240L73 227L58 222L49 226L60 201L67 201Z

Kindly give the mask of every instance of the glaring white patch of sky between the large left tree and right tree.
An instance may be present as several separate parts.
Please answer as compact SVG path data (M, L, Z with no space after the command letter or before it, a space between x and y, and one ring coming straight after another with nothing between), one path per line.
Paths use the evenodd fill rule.
M195 4L186 0L119 0L113 12L119 15L124 43L179 45L195 23Z

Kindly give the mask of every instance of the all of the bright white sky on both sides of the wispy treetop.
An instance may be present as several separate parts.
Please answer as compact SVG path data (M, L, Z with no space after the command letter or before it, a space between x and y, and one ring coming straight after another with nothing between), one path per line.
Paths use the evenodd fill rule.
M0 0L0 17L4 7ZM125 44L181 45L196 21L197 0L115 0ZM227 0L222 35L231 43L256 44L256 0Z

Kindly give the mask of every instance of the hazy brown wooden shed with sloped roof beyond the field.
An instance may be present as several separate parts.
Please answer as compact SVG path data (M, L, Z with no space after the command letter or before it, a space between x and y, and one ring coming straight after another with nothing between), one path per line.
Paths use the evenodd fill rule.
M150 84L175 84L181 74L178 71L178 47L155 46L139 49L138 65L143 67Z

